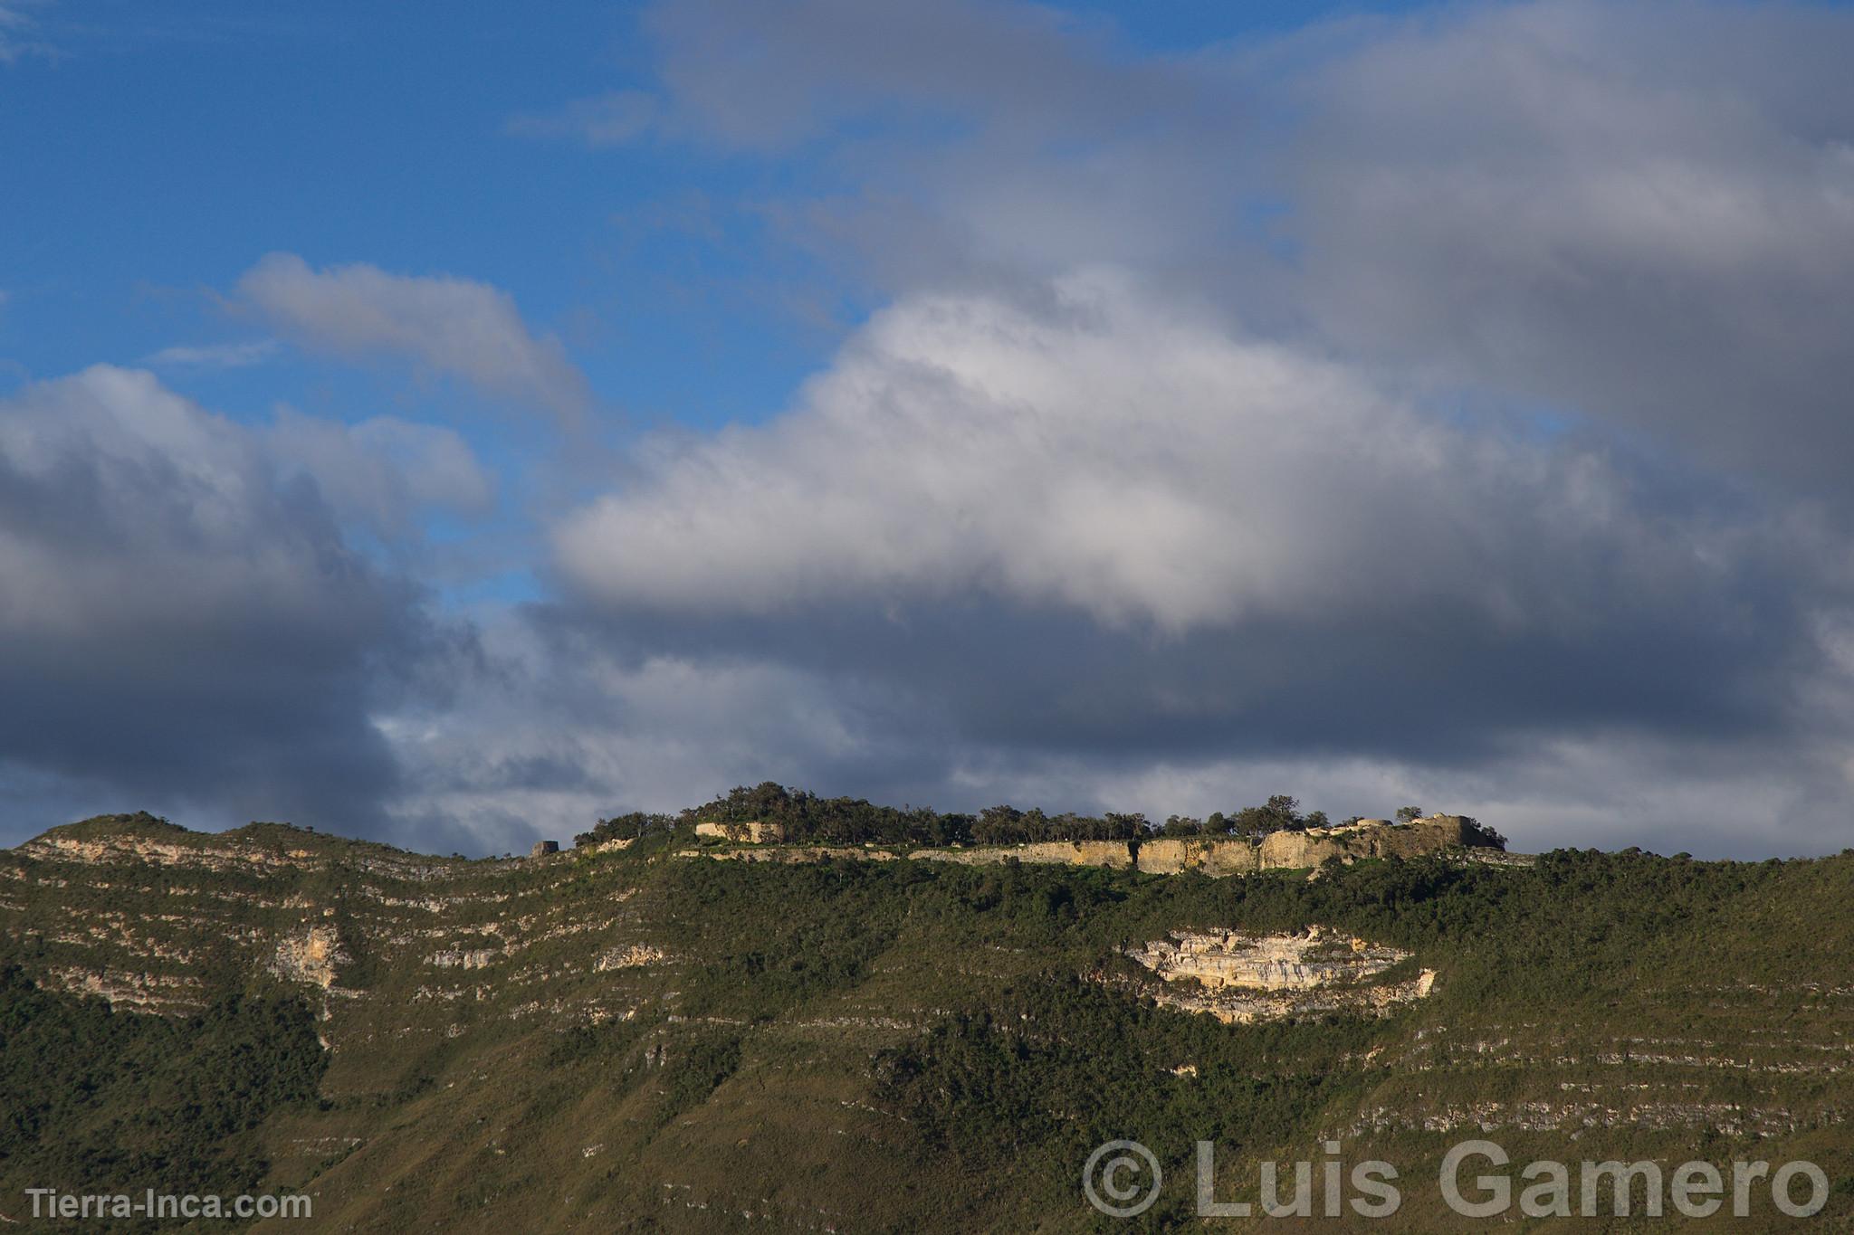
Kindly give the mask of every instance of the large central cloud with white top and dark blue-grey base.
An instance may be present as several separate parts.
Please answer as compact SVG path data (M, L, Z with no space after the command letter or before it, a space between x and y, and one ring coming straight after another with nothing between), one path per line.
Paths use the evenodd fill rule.
M795 409L658 443L556 535L606 631L870 692L962 800L1155 763L1253 794L1313 752L1459 798L1591 742L1847 731L1839 541L1728 491L1081 278L895 306Z

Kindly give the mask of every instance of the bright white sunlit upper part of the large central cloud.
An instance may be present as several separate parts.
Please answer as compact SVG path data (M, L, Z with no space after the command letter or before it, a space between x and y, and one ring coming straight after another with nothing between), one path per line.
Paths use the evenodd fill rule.
M786 417L656 446L558 530L562 565L619 609L990 594L1187 631L1446 604L1518 630L1580 620L1594 546L1644 593L1737 557L1598 454L1465 431L1114 276L1055 302L883 311Z

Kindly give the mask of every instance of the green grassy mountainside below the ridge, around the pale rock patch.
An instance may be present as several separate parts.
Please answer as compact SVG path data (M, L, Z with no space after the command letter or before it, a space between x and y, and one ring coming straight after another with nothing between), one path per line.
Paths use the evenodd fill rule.
M1340 1137L1348 1161L1403 1168L1396 1226L1452 1229L1433 1163L1481 1124L1520 1161L1811 1157L1841 1181L1830 1213L1854 1200L1854 857L1559 854L1307 881L645 848L436 863L419 879L380 846L247 831L230 844L321 868L6 855L0 874L19 878L0 881L0 959L33 976L167 970L202 998L326 998L319 1098L291 1094L300 1052L280 1050L247 1085L274 1091L256 1128L197 1129L219 1135L200 1161L260 1163L317 1198L317 1220L287 1229L734 1229L745 1215L1107 1229L1077 1176L1112 1137L1170 1166L1149 1228L1190 1220L1198 1139L1218 1142L1227 1198L1253 1192L1261 1157L1320 1161ZM1166 929L1314 922L1413 950L1437 992L1389 1020L1225 1028L1140 1002L1114 955ZM330 996L265 972L276 939L315 924L350 955ZM432 965L471 950L482 967ZM202 1048L185 1067L210 1061ZM1187 1063L1196 1076L1174 1074ZM132 1098L104 1091L85 1128ZM26 1185L22 1163L0 1159L7 1189Z

